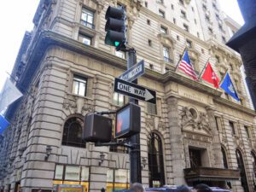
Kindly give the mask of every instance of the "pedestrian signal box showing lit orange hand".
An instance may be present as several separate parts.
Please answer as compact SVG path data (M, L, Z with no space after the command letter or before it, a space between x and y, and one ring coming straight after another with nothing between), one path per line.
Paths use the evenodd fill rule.
M131 137L141 131L141 108L128 103L116 112L115 137Z

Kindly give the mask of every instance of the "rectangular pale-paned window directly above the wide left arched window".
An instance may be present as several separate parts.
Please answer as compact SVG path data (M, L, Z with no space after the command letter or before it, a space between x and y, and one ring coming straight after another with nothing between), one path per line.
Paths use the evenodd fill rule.
M73 76L73 94L86 96L87 79L78 75Z

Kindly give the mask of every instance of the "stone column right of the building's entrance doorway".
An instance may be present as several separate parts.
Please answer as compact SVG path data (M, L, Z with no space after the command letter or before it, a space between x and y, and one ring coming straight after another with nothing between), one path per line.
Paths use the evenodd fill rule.
M214 157L214 161L212 162L212 167L216 168L224 168L223 164L223 156L221 153L221 145L218 137L218 129L214 117L214 109L207 107L207 116L209 120L209 126L212 130L212 153Z

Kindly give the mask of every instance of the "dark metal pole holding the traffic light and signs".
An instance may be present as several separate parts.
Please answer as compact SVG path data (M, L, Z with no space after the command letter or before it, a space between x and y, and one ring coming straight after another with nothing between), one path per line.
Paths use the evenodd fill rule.
M137 63L136 50L131 48L128 50L127 68L134 66ZM137 79L132 81L137 84ZM129 102L138 104L137 99L129 98ZM140 134L130 137L129 143L133 148L130 148L130 184L142 183L141 171L141 154L140 154Z

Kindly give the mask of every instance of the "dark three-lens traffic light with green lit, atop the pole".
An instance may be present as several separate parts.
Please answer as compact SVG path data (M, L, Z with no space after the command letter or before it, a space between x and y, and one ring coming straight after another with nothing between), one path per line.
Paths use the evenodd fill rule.
M126 26L125 9L123 7L114 8L109 6L105 15L107 20L105 26L105 44L114 46L116 50L125 48L126 44Z

